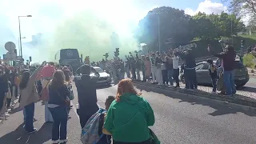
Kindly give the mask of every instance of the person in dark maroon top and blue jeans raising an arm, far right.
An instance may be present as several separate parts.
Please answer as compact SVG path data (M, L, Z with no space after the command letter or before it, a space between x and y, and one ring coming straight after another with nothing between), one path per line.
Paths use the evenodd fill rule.
M231 95L236 93L236 88L234 85L234 60L236 57L234 47L227 45L225 53L214 54L211 46L208 45L208 51L215 57L222 58L222 66L224 70L224 85L226 88L226 95Z

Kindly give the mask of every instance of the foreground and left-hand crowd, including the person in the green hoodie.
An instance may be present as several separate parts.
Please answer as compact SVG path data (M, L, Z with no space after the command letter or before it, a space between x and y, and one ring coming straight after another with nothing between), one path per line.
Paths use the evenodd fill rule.
M42 62L42 65L31 67L31 69L34 71L1 66L0 100L2 103L0 107L6 110L8 106L6 104L9 102L6 101L6 96L8 92L10 93L10 86L13 86L12 90L16 88L17 93L12 92L10 95L19 98L19 107L23 109L24 114L24 129L27 134L33 134L37 132L33 125L36 120L34 118L35 103L42 101L45 105L45 121L52 123L52 143L65 143L68 141L67 123L70 100L74 98L72 82L77 87L78 105L76 107L82 130L90 121L90 117L99 110L96 93L98 74L91 76L91 67L86 64L79 68L79 74L74 76L74 79L67 66L55 66L54 62ZM13 77L14 85L10 82ZM154 112L146 99L134 89L132 80L120 81L117 95L107 97L105 105L102 136L96 143L110 144L112 139L114 144L151 142L152 131L148 126L154 125ZM127 122L129 119L130 121ZM134 130L138 131L134 133Z

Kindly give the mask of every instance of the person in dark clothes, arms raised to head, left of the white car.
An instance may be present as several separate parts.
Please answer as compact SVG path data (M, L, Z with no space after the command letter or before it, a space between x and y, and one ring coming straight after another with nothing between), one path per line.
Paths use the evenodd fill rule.
M96 83L98 81L98 74L90 76L90 65L83 65L79 68L80 75L74 77L75 86L78 90L78 115L80 118L80 125L83 128L88 119L98 111Z

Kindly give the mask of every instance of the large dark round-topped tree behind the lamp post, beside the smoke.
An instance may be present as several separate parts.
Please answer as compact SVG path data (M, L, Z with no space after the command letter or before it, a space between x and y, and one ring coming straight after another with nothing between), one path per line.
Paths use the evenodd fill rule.
M186 15L183 10L166 6L158 7L151 10L139 22L138 30L136 30L134 36L139 43L146 43L149 50L158 50L159 27L162 50L170 48L165 44L168 38L173 39L173 46L184 45L194 38L194 30L190 27L190 19L191 17Z

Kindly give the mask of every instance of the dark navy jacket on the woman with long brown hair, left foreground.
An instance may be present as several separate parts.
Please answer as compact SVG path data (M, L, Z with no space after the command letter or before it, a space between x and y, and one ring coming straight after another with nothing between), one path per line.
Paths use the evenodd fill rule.
M70 90L66 85L59 87L57 90L49 86L49 104L66 106L67 98L70 98Z

